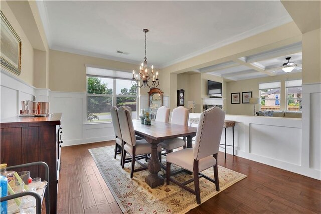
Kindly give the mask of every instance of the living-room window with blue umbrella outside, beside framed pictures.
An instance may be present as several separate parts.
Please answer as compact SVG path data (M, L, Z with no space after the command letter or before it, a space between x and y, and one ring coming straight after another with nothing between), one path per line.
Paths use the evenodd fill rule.
M280 110L281 82L269 82L259 84L261 98L260 110Z

